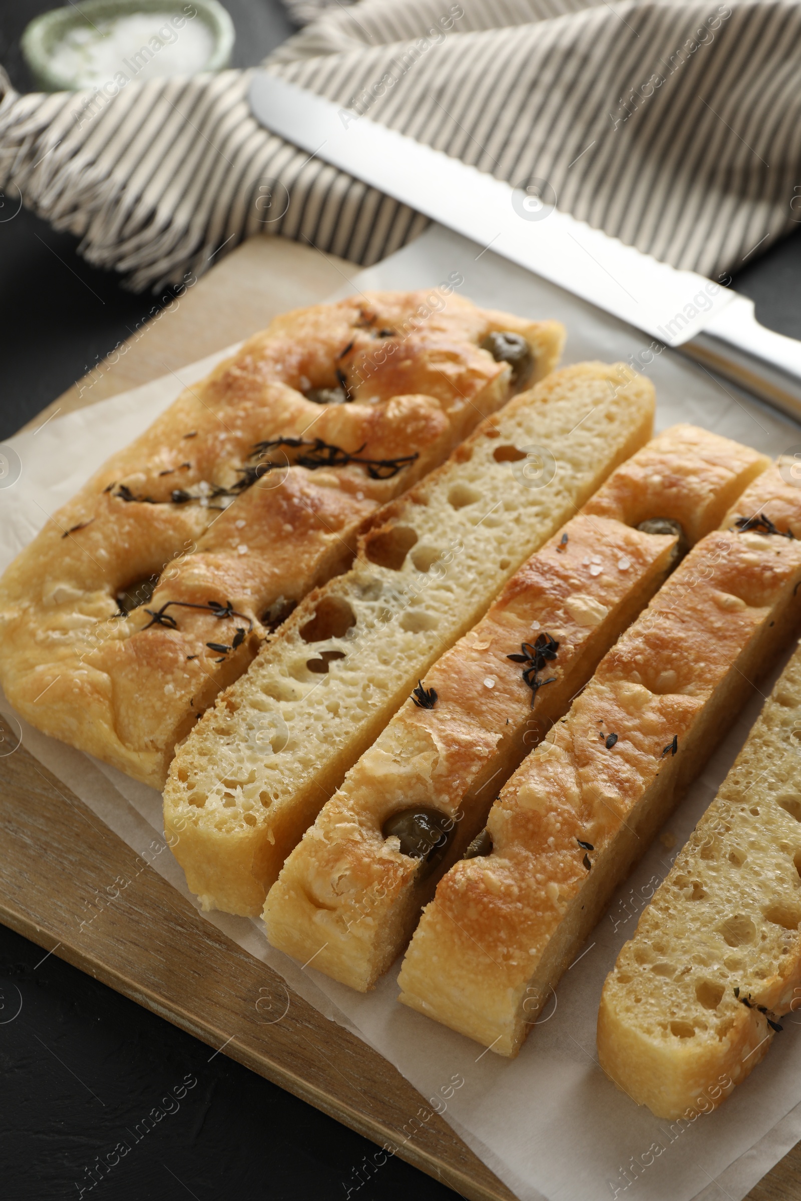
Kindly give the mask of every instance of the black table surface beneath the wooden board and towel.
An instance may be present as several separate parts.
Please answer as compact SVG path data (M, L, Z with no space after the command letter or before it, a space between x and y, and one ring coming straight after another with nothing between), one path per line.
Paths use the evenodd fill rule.
M19 35L48 7L5 0L0 8L0 61L20 90L31 83ZM258 62L292 32L279 0L226 7L237 26L234 66ZM88 267L74 238L14 209L0 196L0 438L127 337L154 304ZM801 337L801 228L748 263L734 286L755 300L764 324ZM4 1201L453 1196L400 1159L360 1183L372 1143L54 955L42 960L38 946L0 926ZM13 1020L11 985L22 996ZM178 1100L185 1081L196 1083ZM91 1188L97 1157L154 1107L163 1119Z

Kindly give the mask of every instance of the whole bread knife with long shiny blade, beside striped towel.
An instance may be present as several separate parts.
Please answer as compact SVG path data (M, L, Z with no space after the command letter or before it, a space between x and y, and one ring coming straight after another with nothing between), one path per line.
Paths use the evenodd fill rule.
M801 342L760 325L753 300L560 213L548 186L513 189L353 109L257 72L256 119L480 246L681 349L801 420Z

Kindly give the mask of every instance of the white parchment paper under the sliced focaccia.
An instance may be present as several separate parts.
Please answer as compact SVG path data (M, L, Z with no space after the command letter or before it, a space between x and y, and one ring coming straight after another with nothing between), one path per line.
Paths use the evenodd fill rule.
M624 360L644 370L657 386L659 429L691 420L772 455L801 446L801 429L789 418L722 384L677 353L653 348L648 353L650 341L630 328L497 258L491 250L437 227L361 273L341 294L435 286L454 271L464 276L460 293L478 304L562 319L568 328L563 362ZM610 280L610 288L616 286ZM12 438L22 474L13 485L0 486L0 570L108 454L144 430L184 384L202 378L221 357L186 368L180 380L171 375ZM764 693L769 686L763 686ZM740 721L671 820L676 846L666 850L657 841L626 882L516 1060L507 1062L397 1004L397 964L372 993L360 996L313 967L301 970L269 946L259 922L215 913L204 916L275 968L321 1012L355 1030L430 1099L429 1109L408 1115L411 1139L437 1109L521 1201L608 1201L615 1196L740 1201L801 1137L801 1039L796 1030L801 1018L784 1018L784 1030L766 1060L719 1110L673 1127L638 1109L606 1080L597 1064L594 1032L606 972L633 933L646 898L712 800L761 703L763 695L754 689ZM11 712L5 699L1 707ZM161 797L155 790L46 737L14 715L11 719L22 730L24 746L95 818L196 903L165 846ZM98 882L98 891L104 883ZM91 937L89 924L82 937Z

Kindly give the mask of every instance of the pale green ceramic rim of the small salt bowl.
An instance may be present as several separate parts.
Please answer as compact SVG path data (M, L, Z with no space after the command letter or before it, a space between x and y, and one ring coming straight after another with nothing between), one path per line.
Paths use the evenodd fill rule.
M190 14L191 10L195 16ZM101 20L148 12L203 22L211 34L211 53L198 71L222 71L231 62L234 26L217 0L83 0L79 8L73 5L52 8L35 17L25 29L22 49L37 85L43 91L77 91L95 86L94 80L82 79L79 74L60 72L54 62L55 48L72 29L92 29Z

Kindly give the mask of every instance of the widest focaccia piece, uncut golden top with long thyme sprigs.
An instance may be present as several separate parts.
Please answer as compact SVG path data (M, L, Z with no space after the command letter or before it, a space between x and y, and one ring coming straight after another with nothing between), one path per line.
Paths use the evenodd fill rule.
M163 785L264 637L349 567L365 518L555 366L556 322L431 295L276 318L48 520L0 582L19 713Z

